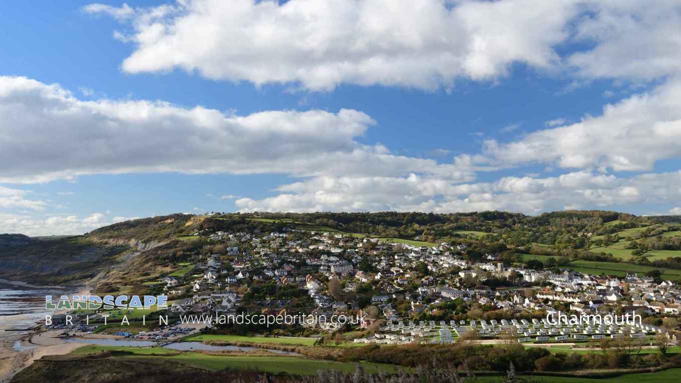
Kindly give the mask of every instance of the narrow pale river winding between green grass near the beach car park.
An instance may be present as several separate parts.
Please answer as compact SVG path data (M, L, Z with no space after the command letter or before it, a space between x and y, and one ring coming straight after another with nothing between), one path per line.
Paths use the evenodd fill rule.
M161 342L157 341L136 341L127 339L84 339L84 338L64 338L64 341L68 343L87 343L94 344L97 346L121 346L121 347L156 347L160 346ZM165 343L163 348L168 348L170 350L178 351L236 351L236 352L249 352L249 351L268 351L272 354L286 355L286 356L303 356L297 352L274 350L271 348L258 348L249 346L214 346L210 344L204 344L198 341L188 341L188 342L173 342Z

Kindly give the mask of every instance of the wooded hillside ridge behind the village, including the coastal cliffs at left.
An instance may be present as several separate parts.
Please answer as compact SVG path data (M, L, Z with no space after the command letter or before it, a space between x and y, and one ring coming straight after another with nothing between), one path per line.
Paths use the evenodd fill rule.
M485 251L632 262L681 267L680 226L668 219L610 211L559 211L530 217L518 213L259 213L174 214L125 221L82 236L36 241L5 234L0 241L0 277L39 284L91 284L99 292L134 292L145 281L178 269L210 241L207 234L282 232L296 229L375 236L415 245L471 241L471 254ZM632 258L626 245L648 246ZM639 243L641 243L639 245ZM647 245L644 245L646 243ZM679 257L679 258L677 258ZM650 258L650 259L649 259ZM520 258L513 258L522 260ZM655 262L658 262L657 264ZM662 263L659 263L662 262ZM671 263L669 263L671 262Z

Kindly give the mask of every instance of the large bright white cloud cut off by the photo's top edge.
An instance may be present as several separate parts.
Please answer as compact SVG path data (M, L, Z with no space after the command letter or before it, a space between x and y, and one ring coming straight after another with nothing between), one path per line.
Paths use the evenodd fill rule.
M550 69L569 37L573 0L191 0L138 8L129 73L181 69L206 78L297 82L314 91L341 83L450 87L494 80L513 63ZM129 7L90 5L127 18ZM122 16L125 16L122 17Z

